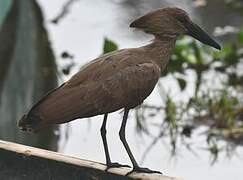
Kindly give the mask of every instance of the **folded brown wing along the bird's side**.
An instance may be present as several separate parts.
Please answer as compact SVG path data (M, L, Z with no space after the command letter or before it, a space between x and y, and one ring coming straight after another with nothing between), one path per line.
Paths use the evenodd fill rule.
M42 124L58 124L140 104L153 90L160 69L152 63L128 63L132 56L127 57L93 61L41 100L32 115Z

